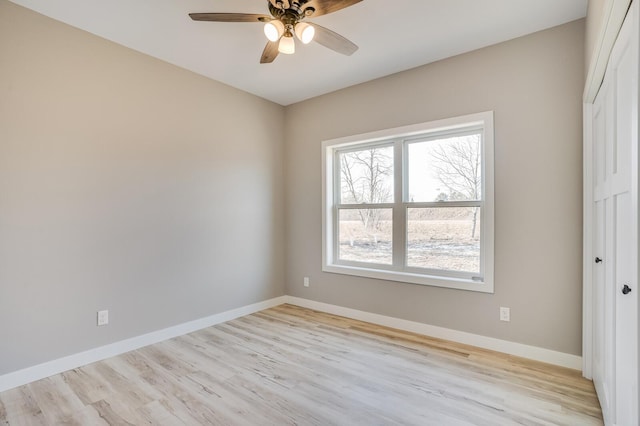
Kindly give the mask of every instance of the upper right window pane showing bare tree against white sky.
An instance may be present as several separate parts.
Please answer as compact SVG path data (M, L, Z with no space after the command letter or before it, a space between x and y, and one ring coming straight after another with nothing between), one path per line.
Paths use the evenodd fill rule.
M408 144L409 202L480 200L479 133Z

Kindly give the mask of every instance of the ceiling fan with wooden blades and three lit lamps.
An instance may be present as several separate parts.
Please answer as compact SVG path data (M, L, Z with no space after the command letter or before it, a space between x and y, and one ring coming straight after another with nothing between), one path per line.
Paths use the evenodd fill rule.
M303 43L312 40L343 55L352 55L358 46L340 34L318 24L302 22L305 18L337 12L362 0L269 0L269 15L254 13L190 13L194 21L213 22L262 22L269 40L261 64L273 62L278 53L295 52L294 35Z

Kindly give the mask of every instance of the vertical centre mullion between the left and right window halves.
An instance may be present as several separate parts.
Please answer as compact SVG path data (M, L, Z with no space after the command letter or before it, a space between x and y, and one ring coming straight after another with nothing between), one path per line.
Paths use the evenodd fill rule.
M404 150L402 140L393 145L393 268L403 270L407 247L406 211L404 199Z

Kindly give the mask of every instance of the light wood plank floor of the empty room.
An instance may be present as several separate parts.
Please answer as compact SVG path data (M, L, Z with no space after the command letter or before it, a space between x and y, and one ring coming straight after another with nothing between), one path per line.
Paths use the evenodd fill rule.
M0 393L0 425L601 425L573 370L282 305Z

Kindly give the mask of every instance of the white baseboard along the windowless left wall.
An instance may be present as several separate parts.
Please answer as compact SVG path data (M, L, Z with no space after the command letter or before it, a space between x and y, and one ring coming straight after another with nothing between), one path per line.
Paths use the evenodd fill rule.
M36 380L44 379L45 377L53 376L54 374L72 370L83 365L117 356L143 346L172 339L177 336L192 333L194 331L249 315L254 312L282 305L283 303L286 303L286 301L286 296L276 297L263 302L221 312L206 318L200 318L183 324L178 324L173 327L143 334L141 336L121 340L109 345L89 349L84 352L38 364L33 367L27 367L22 370L7 373L0 376L0 392L22 386Z

